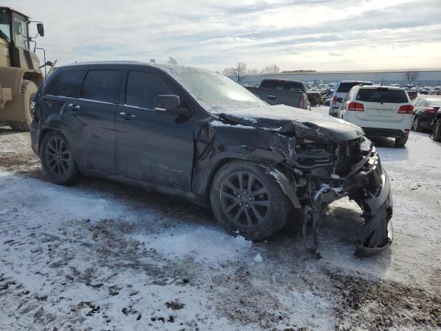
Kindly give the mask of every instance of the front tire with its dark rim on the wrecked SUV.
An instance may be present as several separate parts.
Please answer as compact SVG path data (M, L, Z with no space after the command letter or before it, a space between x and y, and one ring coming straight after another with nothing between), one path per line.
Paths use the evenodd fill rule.
M220 225L254 241L268 239L280 231L291 210L291 202L276 179L258 163L249 161L227 163L218 170L210 201Z

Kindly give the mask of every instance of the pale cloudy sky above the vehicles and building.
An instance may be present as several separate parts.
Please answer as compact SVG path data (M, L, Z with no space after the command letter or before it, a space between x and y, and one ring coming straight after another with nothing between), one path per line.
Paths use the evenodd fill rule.
M441 0L0 0L43 21L48 59L222 70L441 67Z

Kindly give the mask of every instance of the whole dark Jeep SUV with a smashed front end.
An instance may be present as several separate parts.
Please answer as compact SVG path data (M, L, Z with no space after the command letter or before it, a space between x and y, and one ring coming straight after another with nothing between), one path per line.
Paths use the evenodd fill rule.
M391 244L389 177L346 121L269 106L216 72L135 62L58 68L33 104L32 149L54 183L81 172L179 194L252 240L299 221L316 254L320 217L349 197L364 218L356 254Z

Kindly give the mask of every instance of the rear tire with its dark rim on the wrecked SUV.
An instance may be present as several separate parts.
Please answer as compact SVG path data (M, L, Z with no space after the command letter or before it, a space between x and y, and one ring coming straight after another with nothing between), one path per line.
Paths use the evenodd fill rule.
M59 185L70 185L78 174L78 164L63 134L45 134L40 146L41 167L46 177Z

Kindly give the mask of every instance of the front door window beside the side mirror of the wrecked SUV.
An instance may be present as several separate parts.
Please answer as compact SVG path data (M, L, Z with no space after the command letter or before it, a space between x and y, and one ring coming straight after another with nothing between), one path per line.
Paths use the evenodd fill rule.
M158 95L176 94L161 77L149 72L129 71L125 104L145 109L154 109L154 99Z

